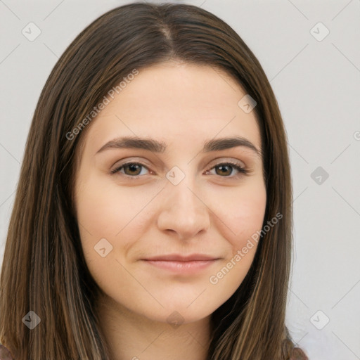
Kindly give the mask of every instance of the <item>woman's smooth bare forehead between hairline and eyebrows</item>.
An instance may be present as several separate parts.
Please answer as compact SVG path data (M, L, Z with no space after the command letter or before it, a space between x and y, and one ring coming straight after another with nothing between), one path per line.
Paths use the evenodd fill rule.
M125 84L125 83L124 83ZM236 134L257 148L255 111L238 105L246 92L223 70L184 63L154 65L128 80L86 129L94 151L118 136L151 136L186 150L204 140ZM179 148L177 148L179 150Z

